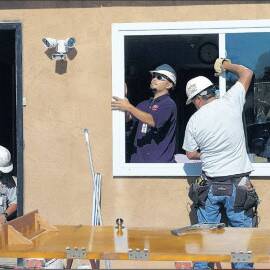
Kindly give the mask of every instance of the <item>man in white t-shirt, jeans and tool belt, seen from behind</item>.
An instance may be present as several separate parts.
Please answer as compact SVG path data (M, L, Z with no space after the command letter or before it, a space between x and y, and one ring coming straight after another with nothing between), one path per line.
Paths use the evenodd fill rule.
M218 75L225 70L238 81L221 98L206 77L198 76L186 86L187 104L197 111L190 117L183 143L189 159L200 159L202 175L190 187L189 196L197 210L198 223L219 223L221 208L232 227L252 227L258 197L249 180L253 170L249 160L242 112L253 72L229 59L215 62ZM211 269L207 262L197 262L194 269ZM235 263L233 269L253 269L250 263Z

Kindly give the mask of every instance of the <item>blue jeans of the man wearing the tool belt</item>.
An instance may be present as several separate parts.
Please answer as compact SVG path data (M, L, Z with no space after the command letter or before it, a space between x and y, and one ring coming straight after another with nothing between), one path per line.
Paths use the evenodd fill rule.
M224 206L228 218L229 226L231 227L252 227L252 217L248 217L245 211L234 212L233 206L236 195L236 187L233 185L231 196L214 196L210 187L205 207L199 207L197 210L199 223L220 223L221 220L221 205ZM207 262L195 262L194 270L212 269L212 264ZM232 269L253 269L252 263L232 263Z

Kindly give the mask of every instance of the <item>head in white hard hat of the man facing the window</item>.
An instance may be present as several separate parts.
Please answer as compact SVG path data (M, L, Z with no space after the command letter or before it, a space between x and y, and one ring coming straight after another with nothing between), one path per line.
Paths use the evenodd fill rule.
M215 99L216 87L204 76L195 77L187 82L186 104L193 103L196 109L200 109L203 105Z

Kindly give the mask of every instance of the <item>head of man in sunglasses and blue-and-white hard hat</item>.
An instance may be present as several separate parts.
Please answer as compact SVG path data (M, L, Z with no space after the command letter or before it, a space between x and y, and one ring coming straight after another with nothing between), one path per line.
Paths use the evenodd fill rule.
M176 85L176 72L168 64L163 64L150 70L152 80L150 88L154 92L169 92Z

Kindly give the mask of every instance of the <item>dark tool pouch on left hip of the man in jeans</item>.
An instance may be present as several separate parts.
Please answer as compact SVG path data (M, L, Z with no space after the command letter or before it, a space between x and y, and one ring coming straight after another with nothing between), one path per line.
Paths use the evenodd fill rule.
M209 184L200 186L197 183L192 183L190 185L188 196L193 201L194 207L200 207L205 205L209 188Z

